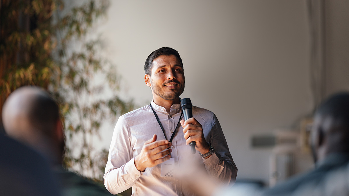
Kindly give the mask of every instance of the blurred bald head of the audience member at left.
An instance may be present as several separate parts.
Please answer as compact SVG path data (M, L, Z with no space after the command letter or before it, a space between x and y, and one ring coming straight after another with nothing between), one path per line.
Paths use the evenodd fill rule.
M33 86L18 88L5 101L2 121L10 137L49 157L53 164L62 163L64 133L59 108L47 92Z

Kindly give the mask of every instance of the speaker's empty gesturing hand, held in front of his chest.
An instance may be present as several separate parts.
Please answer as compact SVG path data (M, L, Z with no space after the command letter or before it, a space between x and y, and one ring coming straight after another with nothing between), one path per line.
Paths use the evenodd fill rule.
M153 138L144 142L141 153L134 158L134 165L138 171L143 172L147 167L154 167L155 165L169 160L171 158L170 153L172 149L167 148L171 145L172 144L167 140L156 141L156 135L154 134Z

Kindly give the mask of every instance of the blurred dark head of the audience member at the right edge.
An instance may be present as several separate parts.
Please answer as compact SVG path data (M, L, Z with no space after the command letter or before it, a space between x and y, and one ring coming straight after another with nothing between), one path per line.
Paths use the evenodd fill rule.
M314 115L311 144L315 161L349 152L349 92L325 100Z

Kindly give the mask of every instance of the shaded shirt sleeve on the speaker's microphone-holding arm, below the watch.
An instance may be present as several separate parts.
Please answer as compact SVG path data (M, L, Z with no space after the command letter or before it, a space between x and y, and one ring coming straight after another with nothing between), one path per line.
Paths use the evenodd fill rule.
M219 179L224 184L235 183L238 169L231 157L227 141L215 114L212 118L211 135L207 142L210 142L215 149L215 153L209 158L203 158L207 171L213 178Z

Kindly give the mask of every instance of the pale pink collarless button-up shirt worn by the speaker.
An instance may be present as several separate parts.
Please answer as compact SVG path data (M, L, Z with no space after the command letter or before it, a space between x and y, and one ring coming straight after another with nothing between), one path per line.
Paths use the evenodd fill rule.
M153 101L151 106L158 115L169 140L181 114L180 104L172 105L169 113ZM219 179L227 185L234 182L237 168L218 119L213 112L195 106L193 106L193 117L202 125L205 139L212 144L215 153L207 159L202 158L198 152L191 154L190 146L185 144L183 127L179 125L172 141L171 157L174 158L175 166L185 167L181 164L190 157L199 160L212 178ZM132 195L195 195L183 188L180 180L161 177L161 164L146 168L144 172L138 171L135 167L134 157L141 152L144 142L154 134L157 135L157 140L165 139L149 105L120 116L114 128L105 166L104 185L110 193L121 193L132 187Z

